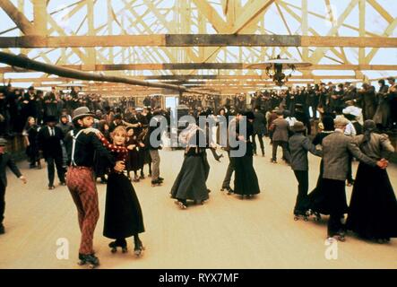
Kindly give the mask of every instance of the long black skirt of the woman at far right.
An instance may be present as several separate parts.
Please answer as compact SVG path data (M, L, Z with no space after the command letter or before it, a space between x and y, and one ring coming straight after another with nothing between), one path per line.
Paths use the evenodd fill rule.
M367 239L397 237L397 200L386 170L359 163L346 223Z

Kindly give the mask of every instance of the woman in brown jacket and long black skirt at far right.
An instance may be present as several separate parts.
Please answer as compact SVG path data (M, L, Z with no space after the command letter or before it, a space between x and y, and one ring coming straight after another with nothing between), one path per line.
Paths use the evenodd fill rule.
M375 133L373 120L364 123L364 135L356 137L361 152L380 161L388 160L394 152L387 135ZM360 162L350 199L348 230L379 243L397 237L397 200L386 170Z

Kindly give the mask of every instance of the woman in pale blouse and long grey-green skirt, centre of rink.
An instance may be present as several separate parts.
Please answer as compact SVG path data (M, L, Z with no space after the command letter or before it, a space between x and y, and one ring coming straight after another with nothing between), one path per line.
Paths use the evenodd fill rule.
M179 135L179 139L186 144L185 159L171 188L171 198L177 199L176 203L181 209L186 209L187 200L203 204L209 198L205 181L210 166L206 162L205 134L202 129L191 124ZM199 143L204 144L201 146Z

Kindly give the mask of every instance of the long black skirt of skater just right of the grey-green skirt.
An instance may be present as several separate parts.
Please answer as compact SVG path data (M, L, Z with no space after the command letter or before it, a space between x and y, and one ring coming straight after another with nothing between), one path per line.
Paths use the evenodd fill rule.
M241 196L251 196L260 193L258 178L253 165L252 144L247 144L245 156L234 158L235 178L234 192Z

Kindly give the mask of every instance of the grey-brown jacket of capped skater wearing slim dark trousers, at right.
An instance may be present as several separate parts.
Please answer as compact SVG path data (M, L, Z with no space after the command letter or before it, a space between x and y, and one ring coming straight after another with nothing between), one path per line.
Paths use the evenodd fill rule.
M292 170L308 170L309 163L307 152L316 156L321 156L322 152L315 149L315 145L310 142L309 138L300 133L292 135L289 138L289 152L291 154Z

